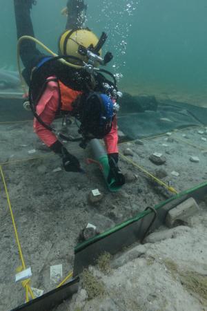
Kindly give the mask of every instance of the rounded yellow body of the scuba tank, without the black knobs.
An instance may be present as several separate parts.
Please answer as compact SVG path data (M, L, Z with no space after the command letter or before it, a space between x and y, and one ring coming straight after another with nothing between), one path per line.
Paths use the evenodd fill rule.
M101 56L102 46L100 39L89 29L66 30L59 39L59 54L70 55L88 62L87 50ZM75 59L71 62L77 64Z

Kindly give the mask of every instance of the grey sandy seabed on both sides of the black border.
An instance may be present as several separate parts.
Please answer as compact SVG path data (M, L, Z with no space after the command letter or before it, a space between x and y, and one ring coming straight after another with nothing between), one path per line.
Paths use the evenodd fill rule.
M78 143L66 143L66 147L79 158L86 173L54 171L61 167L61 160L37 139L31 121L0 124L0 128L3 173L26 265L32 267L33 288L48 292L58 285L50 280L51 265L63 265L63 276L72 270L74 247L88 223L103 232L168 196L139 169L121 159L127 183L116 194L110 193L98 167L86 164L86 158L92 157L90 149L80 149ZM164 135L144 140L143 145L120 144L119 149L121 153L130 149L132 155L128 158L150 173L156 175L157 170L164 169L167 176L162 180L170 182L177 191L184 191L207 180L207 142L201 140L199 130L206 131L198 127L183 129L172 133L171 142ZM76 133L75 126L71 131ZM203 137L207 138L206 132ZM32 150L35 152L30 153ZM150 162L149 156L154 152L162 153L166 163L157 167ZM190 156L199 157L199 162L190 162ZM173 176L172 171L179 176ZM25 297L21 284L14 282L21 262L2 182L0 187L0 310L8 311L23 303ZM91 205L88 194L96 188L103 194L103 200ZM56 310L207 310L206 208L207 199L190 223L172 229L171 236L162 227L157 232L162 232L161 238L155 236L153 240L149 236L145 245L134 245L110 258L109 273L91 267L90 273L103 283L102 295L88 300L87 288L80 287L72 301ZM134 255L129 255L130 252ZM189 276L188 273L204 277L201 294L186 281L184 276Z

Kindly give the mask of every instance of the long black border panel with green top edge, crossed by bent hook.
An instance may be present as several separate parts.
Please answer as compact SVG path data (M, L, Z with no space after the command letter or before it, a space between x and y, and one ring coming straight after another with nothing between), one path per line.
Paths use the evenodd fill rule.
M179 203L190 197L195 198L195 200L199 202L205 194L207 194L207 182L183 191L159 203L159 205L156 205L155 210L157 211L157 218L150 228L150 231L152 232L164 224L166 215L170 209L176 207ZM146 230L153 216L154 213L152 211L143 211L135 218L131 218L103 232L103 234L99 234L95 236L95 238L91 238L77 245L77 247L75 247L74 276L80 274L88 265L94 265L97 262L97 258L99 258L103 252L108 252L112 255L117 254L117 252L120 252L124 247L129 247L133 243L141 241L146 234Z

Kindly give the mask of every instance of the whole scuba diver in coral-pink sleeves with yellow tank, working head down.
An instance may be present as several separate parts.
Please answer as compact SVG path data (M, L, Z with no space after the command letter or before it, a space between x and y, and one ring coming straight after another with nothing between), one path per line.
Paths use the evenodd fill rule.
M37 1L14 0L17 38L30 36L34 30L30 11ZM125 178L118 167L117 99L119 91L115 78L107 70L99 70L112 59L110 52L101 57L106 41L82 25L86 19L84 0L68 0L63 10L67 15L66 30L59 38L59 55L41 53L35 41L24 39L19 49L23 66L22 75L29 86L29 101L34 113L34 132L52 151L57 153L66 171L81 172L79 160L63 147L51 126L59 113L75 117L82 136L81 147L93 138L103 139L108 153L110 173L108 182L115 179L117 186ZM106 78L108 74L110 78Z

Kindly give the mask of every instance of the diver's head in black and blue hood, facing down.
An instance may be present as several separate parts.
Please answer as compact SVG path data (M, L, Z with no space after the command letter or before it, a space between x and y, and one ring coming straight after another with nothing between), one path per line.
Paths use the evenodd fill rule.
M83 138L104 138L112 128L115 116L114 104L105 94L92 92L82 97L79 106L78 120L81 122L79 133Z

